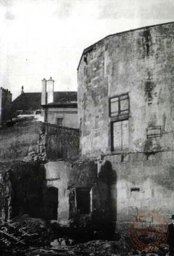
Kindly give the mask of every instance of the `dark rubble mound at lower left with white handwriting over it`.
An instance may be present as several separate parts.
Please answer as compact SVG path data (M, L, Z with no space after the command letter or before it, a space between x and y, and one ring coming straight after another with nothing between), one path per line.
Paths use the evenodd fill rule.
M0 247L7 249L10 247L48 246L58 235L55 227L49 222L31 218L28 214L5 222L1 230L6 231L5 238L10 242L10 246L0 241Z

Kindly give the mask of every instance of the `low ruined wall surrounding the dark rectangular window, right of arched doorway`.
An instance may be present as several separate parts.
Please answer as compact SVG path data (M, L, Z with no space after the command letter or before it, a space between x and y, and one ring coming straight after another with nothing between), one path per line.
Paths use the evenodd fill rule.
M105 168L104 168L105 169ZM58 188L58 214L60 225L92 229L105 228L109 217L109 185L105 170L97 173L92 161L59 161L45 164L48 187ZM79 215L76 209L76 188L91 189L91 213Z

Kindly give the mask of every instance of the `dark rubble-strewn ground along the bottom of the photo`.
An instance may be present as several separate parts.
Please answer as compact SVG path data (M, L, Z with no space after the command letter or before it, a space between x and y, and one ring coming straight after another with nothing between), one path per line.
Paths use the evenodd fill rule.
M73 239L72 235L71 237L65 235L57 225L51 225L42 219L31 218L28 214L14 218L13 221L5 223L0 228L0 231L2 230L0 232L0 255L2 256L18 255L18 250L33 251L32 247L49 247L50 252L52 252L51 249L85 251L90 252L90 256L93 256L94 252L121 255L166 256L169 251L167 244L158 251L149 253L140 251L131 243L128 233L121 234L121 236L117 235L115 241L109 241L107 239L90 241L89 237L89 241L87 239L87 242L84 241L82 243ZM9 236L9 234L13 236ZM10 242L10 245L3 242L3 237ZM18 242L15 238L18 238Z

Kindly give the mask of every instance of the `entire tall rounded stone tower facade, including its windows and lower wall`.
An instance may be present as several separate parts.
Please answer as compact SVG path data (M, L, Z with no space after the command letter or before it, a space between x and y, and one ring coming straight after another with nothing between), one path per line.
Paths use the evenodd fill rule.
M80 152L112 165L117 229L141 211L173 211L173 25L109 35L77 69Z

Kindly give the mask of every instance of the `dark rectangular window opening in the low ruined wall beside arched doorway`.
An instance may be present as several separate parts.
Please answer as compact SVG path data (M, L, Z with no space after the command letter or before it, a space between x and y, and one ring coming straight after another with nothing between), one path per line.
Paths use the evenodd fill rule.
M79 214L91 212L90 188L76 188L76 208Z

